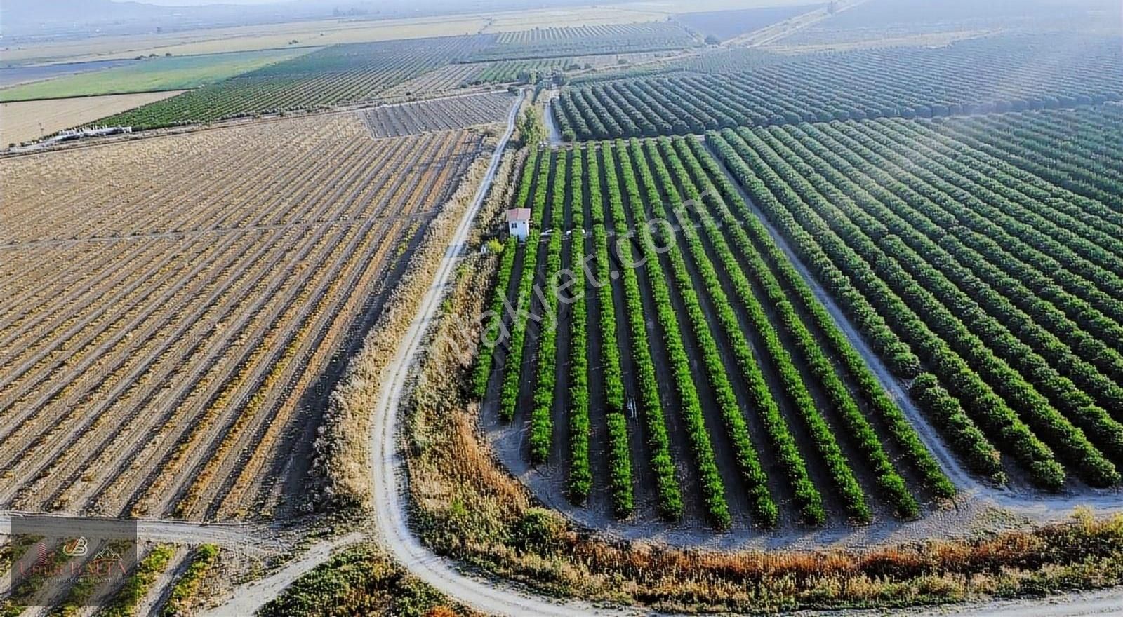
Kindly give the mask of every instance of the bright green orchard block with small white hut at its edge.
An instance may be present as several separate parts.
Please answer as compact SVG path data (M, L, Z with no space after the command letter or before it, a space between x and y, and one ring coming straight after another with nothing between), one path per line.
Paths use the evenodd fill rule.
M493 306L519 310L474 388L528 426L532 463L568 470L574 504L606 486L620 517L773 527L953 494L701 141L544 149L514 205L536 231L504 251ZM581 297L549 287L566 276Z

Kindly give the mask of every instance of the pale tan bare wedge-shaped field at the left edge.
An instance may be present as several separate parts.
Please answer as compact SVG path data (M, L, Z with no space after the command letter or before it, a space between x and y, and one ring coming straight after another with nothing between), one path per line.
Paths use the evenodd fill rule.
M183 92L143 92L0 104L0 145L19 144ZM42 125L42 126L40 126ZM42 131L42 132L40 132Z

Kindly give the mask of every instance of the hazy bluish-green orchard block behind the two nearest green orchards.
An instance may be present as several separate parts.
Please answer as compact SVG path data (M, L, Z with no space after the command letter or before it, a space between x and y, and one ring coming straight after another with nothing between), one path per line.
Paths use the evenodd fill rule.
M1066 53L1054 53L1058 47ZM812 54L741 73L584 85L563 93L558 121L577 139L604 139L1074 107L1123 99L1121 71L1117 38L997 37L941 49Z

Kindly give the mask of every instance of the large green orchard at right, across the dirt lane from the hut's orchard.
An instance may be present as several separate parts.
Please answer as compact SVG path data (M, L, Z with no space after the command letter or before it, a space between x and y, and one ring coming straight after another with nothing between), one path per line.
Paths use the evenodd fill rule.
M999 478L997 450L1060 490L1121 479L1121 122L1110 104L706 139L969 467Z

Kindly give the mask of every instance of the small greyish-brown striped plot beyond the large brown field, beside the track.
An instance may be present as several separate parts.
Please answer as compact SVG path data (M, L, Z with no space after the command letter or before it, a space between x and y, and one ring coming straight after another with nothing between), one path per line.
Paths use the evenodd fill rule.
M508 92L449 96L383 105L364 112L363 118L374 137L400 137L501 122L511 110L513 100L514 96Z

